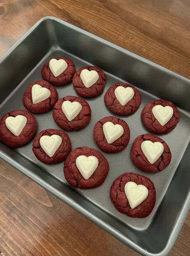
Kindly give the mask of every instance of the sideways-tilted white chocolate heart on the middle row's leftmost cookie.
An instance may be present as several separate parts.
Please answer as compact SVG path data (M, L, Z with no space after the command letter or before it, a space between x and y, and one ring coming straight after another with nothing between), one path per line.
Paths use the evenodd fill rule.
M39 84L35 84L32 86L32 102L34 104L37 104L39 102L42 102L43 100L46 100L50 97L50 90L48 90L45 87L42 87Z

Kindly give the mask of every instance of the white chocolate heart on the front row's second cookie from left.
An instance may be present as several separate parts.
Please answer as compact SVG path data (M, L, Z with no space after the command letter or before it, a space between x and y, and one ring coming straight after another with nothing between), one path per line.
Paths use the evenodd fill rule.
M41 136L39 143L41 145L41 148L45 151L45 153L48 156L52 157L61 145L62 138L57 134L53 134L51 136L44 135Z

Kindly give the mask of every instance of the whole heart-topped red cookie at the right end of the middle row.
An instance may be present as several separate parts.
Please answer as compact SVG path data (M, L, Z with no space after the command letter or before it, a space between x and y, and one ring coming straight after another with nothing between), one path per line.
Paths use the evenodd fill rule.
M170 164L171 159L169 146L153 134L139 135L131 147L131 160L144 172L160 172Z

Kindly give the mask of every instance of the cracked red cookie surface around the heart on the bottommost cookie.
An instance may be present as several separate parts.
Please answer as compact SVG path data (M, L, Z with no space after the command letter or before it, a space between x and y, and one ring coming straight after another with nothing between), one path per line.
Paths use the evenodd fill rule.
M124 188L127 182L135 182L137 185L144 185L148 189L147 198L134 209L130 207L125 194ZM140 174L126 172L113 182L110 189L110 198L119 212L132 218L145 218L153 211L156 203L156 190L154 183L149 178Z

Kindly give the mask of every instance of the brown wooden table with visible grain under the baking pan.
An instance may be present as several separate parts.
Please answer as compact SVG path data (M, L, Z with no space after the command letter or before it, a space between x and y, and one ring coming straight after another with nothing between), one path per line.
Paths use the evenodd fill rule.
M0 55L44 16L190 77L188 0L0 0ZM190 255L189 240L190 214L169 256ZM0 160L0 256L15 255L139 254Z

